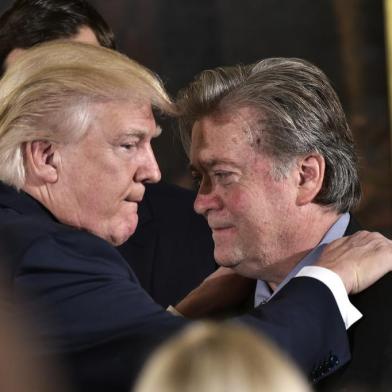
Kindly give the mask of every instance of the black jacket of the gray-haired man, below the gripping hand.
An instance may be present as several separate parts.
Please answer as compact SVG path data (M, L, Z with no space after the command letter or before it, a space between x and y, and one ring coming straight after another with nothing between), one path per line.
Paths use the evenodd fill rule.
M360 230L353 218L350 235ZM349 329L352 360L318 386L319 391L392 390L392 274L350 297L363 318Z

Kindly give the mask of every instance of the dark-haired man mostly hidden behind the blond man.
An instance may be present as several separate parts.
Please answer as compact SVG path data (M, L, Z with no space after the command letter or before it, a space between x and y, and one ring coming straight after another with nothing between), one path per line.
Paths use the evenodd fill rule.
M16 0L0 17L2 71L27 48L55 39L116 48L113 31L85 0ZM142 287L164 307L216 269L211 232L195 214L194 198L164 181L148 184L137 230L119 247Z

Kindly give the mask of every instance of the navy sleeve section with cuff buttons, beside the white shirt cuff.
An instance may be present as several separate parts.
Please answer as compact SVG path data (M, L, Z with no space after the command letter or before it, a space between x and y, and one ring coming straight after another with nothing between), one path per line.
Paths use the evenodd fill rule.
M270 302L238 320L266 333L314 382L350 360L336 301L317 279L292 279Z

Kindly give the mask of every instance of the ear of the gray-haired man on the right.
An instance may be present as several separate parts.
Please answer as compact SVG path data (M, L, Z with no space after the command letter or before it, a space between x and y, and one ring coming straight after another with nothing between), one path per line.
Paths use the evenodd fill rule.
M319 154L309 154L298 161L297 205L311 203L323 185L325 160Z

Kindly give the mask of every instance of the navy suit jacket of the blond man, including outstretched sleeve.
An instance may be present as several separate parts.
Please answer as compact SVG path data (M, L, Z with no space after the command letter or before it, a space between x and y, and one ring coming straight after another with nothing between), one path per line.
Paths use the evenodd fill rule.
M110 244L1 183L0 260L20 312L36 320L41 351L64 360L75 389L129 391L151 350L188 324L153 302ZM315 279L293 279L237 320L269 335L306 373L349 358L336 303Z

